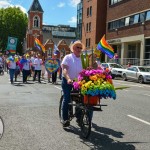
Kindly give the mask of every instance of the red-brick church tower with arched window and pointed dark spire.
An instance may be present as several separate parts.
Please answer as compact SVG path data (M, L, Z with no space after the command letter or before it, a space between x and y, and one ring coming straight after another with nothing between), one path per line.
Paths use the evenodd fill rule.
M34 39L38 38L43 44L43 9L38 0L33 3L28 11L27 50L36 50Z

